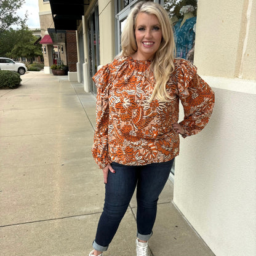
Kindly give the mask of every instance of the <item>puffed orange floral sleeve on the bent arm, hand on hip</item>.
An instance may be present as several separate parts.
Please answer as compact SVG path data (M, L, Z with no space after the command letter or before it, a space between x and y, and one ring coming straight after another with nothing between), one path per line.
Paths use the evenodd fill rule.
M214 91L197 74L196 67L186 61L179 60L180 79L178 94L184 109L184 119L180 124L187 137L198 134L207 124L214 108Z

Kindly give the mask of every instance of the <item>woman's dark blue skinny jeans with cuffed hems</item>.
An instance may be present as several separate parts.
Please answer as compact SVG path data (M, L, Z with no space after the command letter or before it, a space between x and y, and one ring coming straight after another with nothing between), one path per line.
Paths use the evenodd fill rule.
M94 249L105 251L118 230L137 185L137 237L148 241L152 235L159 194L170 174L174 159L146 166L124 166L112 162L108 172L105 204L98 222Z

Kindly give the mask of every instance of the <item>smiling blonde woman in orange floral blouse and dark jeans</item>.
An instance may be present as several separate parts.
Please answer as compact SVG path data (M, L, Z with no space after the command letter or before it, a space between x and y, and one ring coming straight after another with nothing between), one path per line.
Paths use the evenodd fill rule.
M186 60L174 59L174 36L166 11L139 2L122 33L122 52L94 76L97 125L92 154L103 170L105 204L94 250L108 249L137 186L137 255L148 255L158 196L166 184L182 137L209 120L214 92ZM185 118L178 124L178 102Z

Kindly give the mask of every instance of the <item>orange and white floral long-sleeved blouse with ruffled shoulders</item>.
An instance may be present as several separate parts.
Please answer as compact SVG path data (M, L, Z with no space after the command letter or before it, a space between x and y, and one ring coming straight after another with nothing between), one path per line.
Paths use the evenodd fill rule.
M179 100L185 118L183 137L206 126L214 107L214 92L196 73L196 67L175 59L166 90L169 102L149 102L154 87L150 60L117 57L94 76L97 86L97 122L92 154L102 169L111 162L141 166L166 162L179 153Z

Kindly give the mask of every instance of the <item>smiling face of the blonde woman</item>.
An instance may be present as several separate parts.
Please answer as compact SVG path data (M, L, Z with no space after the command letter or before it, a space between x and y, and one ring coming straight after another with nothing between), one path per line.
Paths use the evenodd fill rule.
M162 30L156 15L146 14L145 12L138 14L135 39L138 49L134 54L134 58L137 60L153 58L162 40Z

